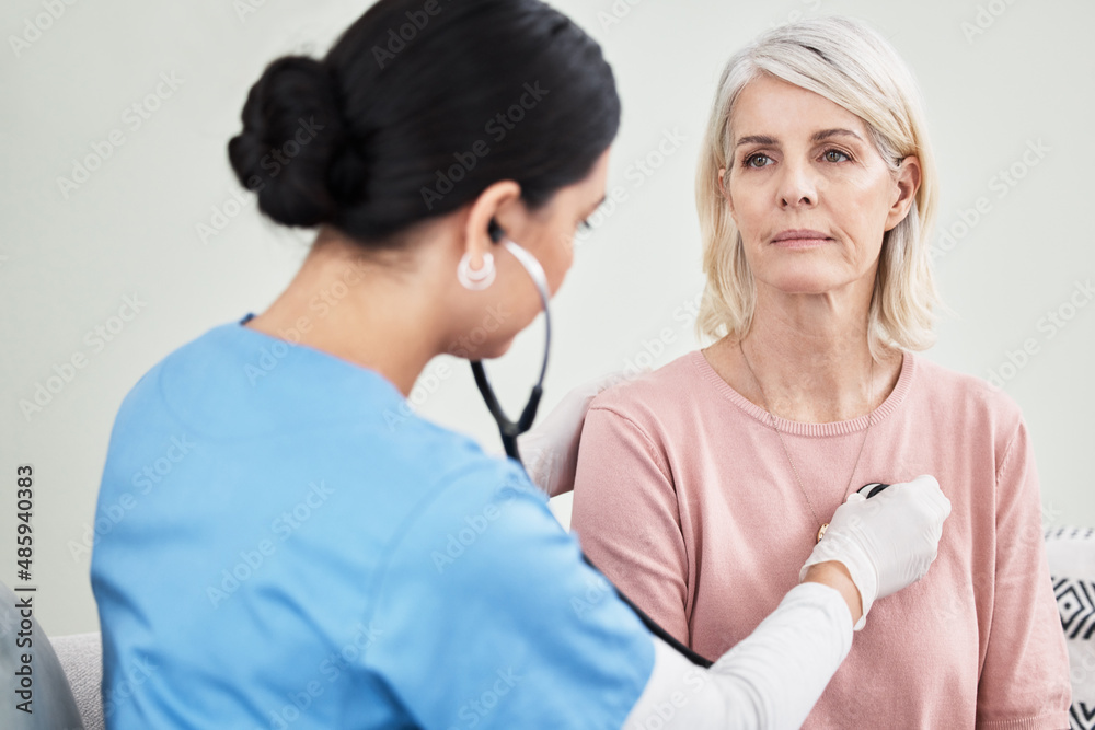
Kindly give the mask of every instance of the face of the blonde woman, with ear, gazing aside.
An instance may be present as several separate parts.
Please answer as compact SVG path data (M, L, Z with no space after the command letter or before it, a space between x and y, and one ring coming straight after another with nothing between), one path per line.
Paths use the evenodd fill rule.
M768 74L741 91L730 132L723 188L758 289L872 291L883 234L920 183L915 158L895 177L860 117Z

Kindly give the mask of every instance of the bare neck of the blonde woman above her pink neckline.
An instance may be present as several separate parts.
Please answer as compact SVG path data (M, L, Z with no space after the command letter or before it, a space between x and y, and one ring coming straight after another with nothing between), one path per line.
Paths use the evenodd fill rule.
M857 418L881 405L901 371L899 350L872 362L868 305L862 296L758 291L748 335L740 343L723 338L704 355L731 387L776 416L815 424Z

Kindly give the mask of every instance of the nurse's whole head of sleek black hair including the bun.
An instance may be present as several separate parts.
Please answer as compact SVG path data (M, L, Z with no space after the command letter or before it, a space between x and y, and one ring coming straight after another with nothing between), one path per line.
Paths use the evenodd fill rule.
M542 206L612 142L620 99L539 0L380 0L323 60L269 63L242 119L229 159L266 216L382 246L500 179Z

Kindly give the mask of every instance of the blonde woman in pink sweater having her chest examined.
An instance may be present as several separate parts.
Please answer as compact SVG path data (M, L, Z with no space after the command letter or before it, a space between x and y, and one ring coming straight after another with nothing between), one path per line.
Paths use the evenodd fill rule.
M716 341L592 402L587 554L717 657L849 494L932 474L954 510L932 572L861 622L804 727L1068 727L1019 409L914 355L933 341L937 178L911 73L858 22L776 28L729 61L703 144L698 328Z

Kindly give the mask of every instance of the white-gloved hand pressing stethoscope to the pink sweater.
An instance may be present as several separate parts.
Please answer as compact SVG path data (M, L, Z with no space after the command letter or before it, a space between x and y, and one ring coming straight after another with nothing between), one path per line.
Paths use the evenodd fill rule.
M864 626L876 599L896 593L927 572L938 553L943 521L950 500L930 475L891 485L871 499L858 493L837 508L825 537L814 547L799 573L818 563L838 560L860 590Z

